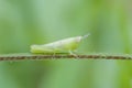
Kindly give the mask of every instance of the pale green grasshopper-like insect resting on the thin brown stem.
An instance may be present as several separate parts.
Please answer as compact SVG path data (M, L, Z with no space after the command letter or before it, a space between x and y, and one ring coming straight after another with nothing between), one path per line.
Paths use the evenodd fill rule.
M31 53L34 54L62 54L75 52L81 40L88 37L89 34L84 36L75 36L61 41L56 41L43 45L31 45Z

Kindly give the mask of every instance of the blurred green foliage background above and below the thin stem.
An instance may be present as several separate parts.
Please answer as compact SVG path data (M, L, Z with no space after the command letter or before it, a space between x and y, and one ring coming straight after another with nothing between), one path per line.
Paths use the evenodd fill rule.
M0 54L91 35L78 52L131 54L131 0L0 0ZM0 62L0 88L132 88L132 62Z

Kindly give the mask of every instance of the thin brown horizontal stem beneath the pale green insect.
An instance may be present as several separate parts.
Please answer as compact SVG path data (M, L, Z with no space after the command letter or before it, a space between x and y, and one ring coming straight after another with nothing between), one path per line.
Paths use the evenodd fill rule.
M90 54L90 55L43 55L43 54L4 54L0 55L0 61L22 61L22 59L132 59L132 55L103 55L103 54Z

